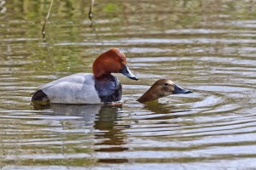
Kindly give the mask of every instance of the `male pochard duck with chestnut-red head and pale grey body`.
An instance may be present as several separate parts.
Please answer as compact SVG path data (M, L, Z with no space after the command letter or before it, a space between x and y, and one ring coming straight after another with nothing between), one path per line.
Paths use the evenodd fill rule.
M33 103L101 104L119 101L122 86L111 73L122 73L137 80L129 70L125 54L111 48L97 57L92 65L93 74L77 73L45 84L33 93Z

